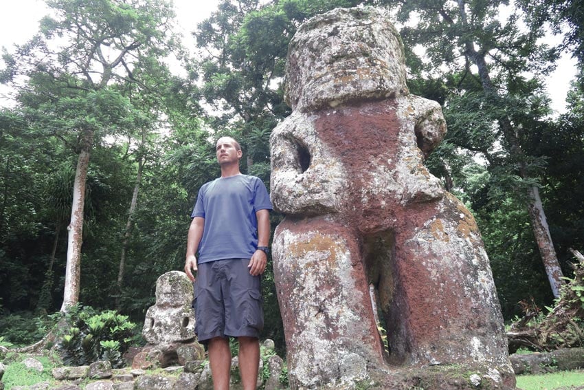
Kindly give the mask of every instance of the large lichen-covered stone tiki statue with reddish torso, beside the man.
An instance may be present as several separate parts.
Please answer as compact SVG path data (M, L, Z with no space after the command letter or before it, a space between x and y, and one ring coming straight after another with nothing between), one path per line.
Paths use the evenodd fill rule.
M409 94L393 25L375 8L314 17L286 77L293 112L270 143L291 387L513 388L475 220L423 165L445 120Z

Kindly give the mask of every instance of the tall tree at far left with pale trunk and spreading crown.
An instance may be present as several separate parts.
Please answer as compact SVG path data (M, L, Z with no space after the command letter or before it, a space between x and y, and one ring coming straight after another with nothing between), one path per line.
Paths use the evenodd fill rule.
M67 269L62 311L76 303L85 184L94 142L131 127L132 107L115 88L137 83L139 69L161 61L171 37L170 4L154 0L47 0L52 17L41 34L4 54L5 80L20 83L19 102L34 109L34 120L69 142L78 162L68 226ZM73 141L73 142L71 142Z

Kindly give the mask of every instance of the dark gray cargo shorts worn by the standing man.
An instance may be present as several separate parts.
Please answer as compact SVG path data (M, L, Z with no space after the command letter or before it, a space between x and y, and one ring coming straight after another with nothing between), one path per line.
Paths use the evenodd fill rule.
M259 338L264 327L260 276L251 276L248 264L249 259L199 264L192 301L199 342L229 336Z

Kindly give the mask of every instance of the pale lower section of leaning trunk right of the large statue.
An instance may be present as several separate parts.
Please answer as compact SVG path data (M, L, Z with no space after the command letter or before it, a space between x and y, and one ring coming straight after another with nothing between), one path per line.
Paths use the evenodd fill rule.
M535 234L535 240L541 254L543 266L546 268L548 280L552 286L552 292L557 298L560 295L560 287L562 285L562 270L558 263L556 251L554 250L554 243L550 235L550 228L546 219L546 213L543 212L541 198L539 197L539 189L532 186L529 190L529 216L531 218L531 226Z

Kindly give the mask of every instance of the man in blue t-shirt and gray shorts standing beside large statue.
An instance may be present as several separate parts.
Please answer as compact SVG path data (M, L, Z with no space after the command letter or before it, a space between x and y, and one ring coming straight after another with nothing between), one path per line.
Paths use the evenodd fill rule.
M267 263L271 202L263 182L239 171L241 147L217 140L221 177L201 186L188 231L185 272L194 283L195 330L209 351L213 387L229 389L229 337L239 341L245 390L256 389L264 325L260 275ZM199 259L195 253L199 250Z

